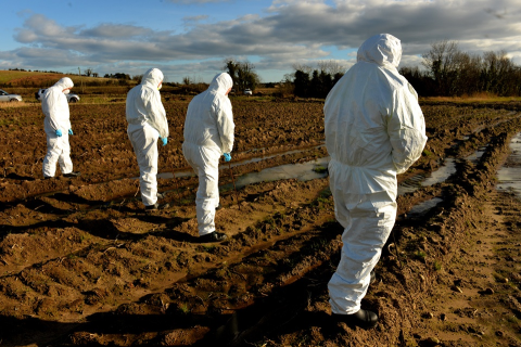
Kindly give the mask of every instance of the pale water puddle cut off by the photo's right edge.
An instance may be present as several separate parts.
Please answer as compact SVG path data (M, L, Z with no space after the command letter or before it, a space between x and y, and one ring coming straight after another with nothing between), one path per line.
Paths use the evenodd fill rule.
M510 151L506 164L497 171L497 190L521 197L521 132L510 141Z

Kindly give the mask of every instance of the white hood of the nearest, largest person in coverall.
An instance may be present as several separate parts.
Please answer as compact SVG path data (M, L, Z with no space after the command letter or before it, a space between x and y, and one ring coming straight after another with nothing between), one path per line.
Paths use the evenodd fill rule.
M357 62L374 63L397 68L402 59L402 43L390 34L370 37L358 49Z

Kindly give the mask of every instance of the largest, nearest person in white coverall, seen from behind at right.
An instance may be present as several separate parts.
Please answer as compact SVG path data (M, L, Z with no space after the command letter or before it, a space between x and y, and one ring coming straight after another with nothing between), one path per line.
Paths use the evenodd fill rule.
M330 188L344 227L341 260L328 284L331 312L366 329L378 323L360 301L395 222L396 175L420 157L427 142L418 95L397 70L401 57L394 36L369 38L323 107Z

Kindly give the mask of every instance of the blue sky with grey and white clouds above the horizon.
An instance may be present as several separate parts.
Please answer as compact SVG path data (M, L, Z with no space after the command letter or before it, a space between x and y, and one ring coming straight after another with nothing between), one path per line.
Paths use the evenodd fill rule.
M9 5L8 5L9 2ZM101 76L161 68L168 81L209 81L224 60L252 62L263 81L295 64L348 68L368 37L402 40L402 66L433 42L521 65L519 0L15 0L1 1L0 69Z

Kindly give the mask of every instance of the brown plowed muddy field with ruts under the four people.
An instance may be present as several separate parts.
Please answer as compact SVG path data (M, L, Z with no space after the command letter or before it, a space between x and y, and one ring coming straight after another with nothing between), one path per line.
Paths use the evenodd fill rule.
M521 346L521 203L496 189L497 170L519 165L507 157L521 103L422 103L429 141L398 178L397 222L363 301L380 323L365 331L330 317L342 228L323 102L232 99L216 214L229 239L201 244L181 153L190 99L164 100L169 208L151 213L124 100L71 105L72 179L42 180L40 105L0 107L1 346Z

